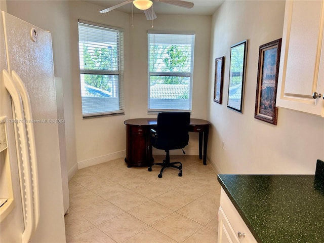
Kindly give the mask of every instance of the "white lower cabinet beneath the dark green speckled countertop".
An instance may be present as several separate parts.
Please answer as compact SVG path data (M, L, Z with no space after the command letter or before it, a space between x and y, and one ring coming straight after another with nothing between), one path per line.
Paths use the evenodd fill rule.
M257 242L223 188L221 189L221 203L218 211L217 242Z

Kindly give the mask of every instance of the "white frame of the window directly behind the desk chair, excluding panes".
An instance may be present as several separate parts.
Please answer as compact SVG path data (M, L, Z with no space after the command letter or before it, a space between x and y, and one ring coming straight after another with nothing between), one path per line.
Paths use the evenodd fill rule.
M150 41L149 41L149 35L150 34L174 34L174 35L193 35L193 40L192 40L192 48L191 48L191 60L190 60L190 72L151 72L150 71ZM194 48L195 48L195 32L194 31L160 31L160 30L148 30L147 31L147 66L148 66L148 97L147 97L147 112L150 113L158 113L161 111L189 111L191 112L192 110L192 86L193 86L193 69L194 69ZM150 90L150 83L151 83L151 76L184 76L184 77L189 77L189 101L188 101L188 106L189 109L157 109L157 108L150 108L151 104L151 90Z

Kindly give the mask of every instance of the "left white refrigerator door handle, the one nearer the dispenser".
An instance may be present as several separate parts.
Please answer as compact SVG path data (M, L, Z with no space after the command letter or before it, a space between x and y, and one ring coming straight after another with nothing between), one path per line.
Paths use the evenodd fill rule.
M4 85L8 90L12 101L15 106L14 110L14 119L17 121L17 128L19 133L20 140L20 151L22 156L22 164L23 170L21 175L23 178L23 182L25 184L25 198L22 198L22 204L25 208L25 230L22 233L21 239L22 242L28 242L31 238L32 233L34 232L34 213L33 213L33 192L32 192L32 179L31 179L31 171L29 165L29 155L28 155L28 140L26 134L26 127L24 123L24 111L23 111L23 103L21 100L20 92L16 87L12 77L7 72L7 70L3 70L4 77ZM16 143L18 144L18 143ZM18 154L17 154L18 155Z

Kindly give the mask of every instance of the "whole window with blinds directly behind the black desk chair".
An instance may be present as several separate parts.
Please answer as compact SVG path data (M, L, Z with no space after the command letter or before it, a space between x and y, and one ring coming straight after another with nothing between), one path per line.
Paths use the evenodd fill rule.
M148 32L148 112L191 111L194 32Z

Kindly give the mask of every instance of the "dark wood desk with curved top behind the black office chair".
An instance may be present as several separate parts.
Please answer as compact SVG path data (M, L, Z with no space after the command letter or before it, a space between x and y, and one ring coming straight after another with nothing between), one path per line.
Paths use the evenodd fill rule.
M156 118L136 118L124 121L127 126L125 161L128 167L149 166L153 162L150 129L156 126ZM207 157L207 142L210 122L203 119L190 119L189 132L199 133L199 158L204 165Z

